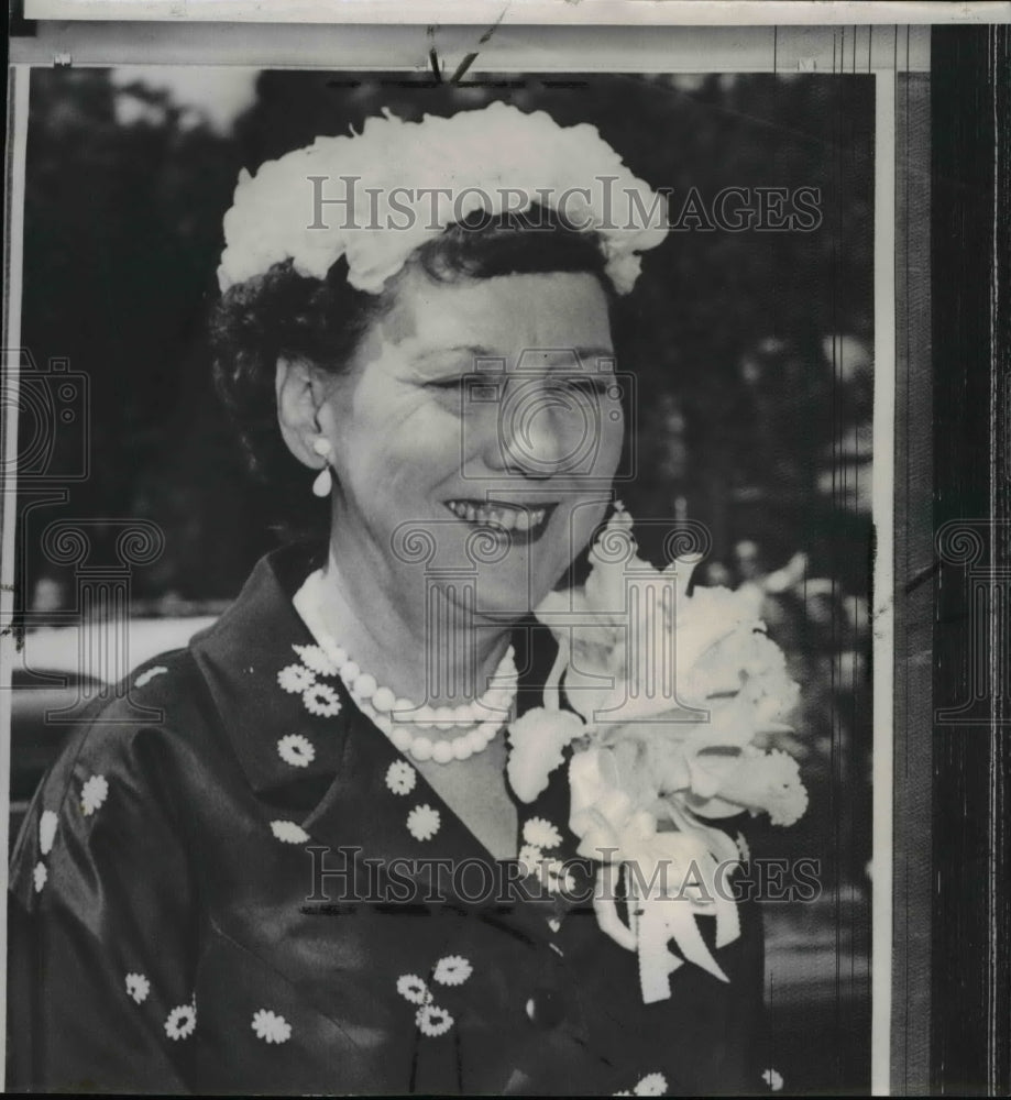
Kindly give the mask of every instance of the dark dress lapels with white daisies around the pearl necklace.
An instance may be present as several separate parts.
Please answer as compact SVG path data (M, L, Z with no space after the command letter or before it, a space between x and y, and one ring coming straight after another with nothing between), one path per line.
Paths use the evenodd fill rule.
M339 702L337 713L318 713L317 704L327 704L329 696L307 705L298 690L310 676L300 653L315 639L292 597L325 553L322 547L294 546L268 554L235 603L193 639L190 651L211 702L254 793L272 809L284 806L314 842L334 851L336 861L340 849L354 849L360 861L377 868L396 860L397 875L416 882L424 895L436 887L450 903L473 909L473 900L454 889L452 868L466 860L492 866L493 857L358 710L339 678L326 680ZM540 705L539 684L553 660L553 641L532 617L514 638L523 711ZM548 813L567 832L568 809L561 803L568 784L560 778L552 777L535 806L517 804L520 832L531 816ZM523 843L520 837L518 846ZM507 877L505 870L501 875ZM527 882L479 908L487 920L539 938L546 913L550 916L557 905L546 891L540 892L547 900L528 903L525 899L536 892Z

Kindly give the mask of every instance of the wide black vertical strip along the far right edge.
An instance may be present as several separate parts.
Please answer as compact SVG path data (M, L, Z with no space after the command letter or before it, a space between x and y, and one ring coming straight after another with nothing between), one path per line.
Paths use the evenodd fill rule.
M1009 586L1008 28L935 28L931 81L934 529L958 521L978 538L971 562L942 561L934 591L931 1076L938 1093L1003 1096L1011 623L1007 600L1001 615L972 591L992 600ZM979 630L987 645L974 653ZM974 697L979 671L983 697L965 721L941 722L938 708Z

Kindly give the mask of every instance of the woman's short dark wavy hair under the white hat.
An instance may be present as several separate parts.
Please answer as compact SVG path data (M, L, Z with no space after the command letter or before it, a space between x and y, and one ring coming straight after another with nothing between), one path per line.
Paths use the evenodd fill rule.
M578 230L554 211L535 208L526 217L488 218L476 211L427 241L409 257L433 280L496 275L586 272L614 301L597 235ZM297 274L292 261L230 287L210 318L215 385L239 433L246 463L277 502L287 535L318 534L322 509L314 509L310 472L290 453L277 424L278 359L299 359L340 374L370 324L395 300L398 279L382 294L348 282L341 257L325 279ZM319 515L312 516L316 512Z

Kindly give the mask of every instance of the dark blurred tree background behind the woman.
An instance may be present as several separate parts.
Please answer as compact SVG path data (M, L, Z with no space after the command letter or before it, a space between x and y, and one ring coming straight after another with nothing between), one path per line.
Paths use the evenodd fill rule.
M867 954L871 77L469 74L449 86L404 74L35 69L23 344L40 365L61 356L87 374L91 455L61 516L45 508L39 520L155 521L165 551L136 571L139 606L232 597L275 543L275 517L215 397L204 332L240 168L359 130L383 107L417 119L497 99L592 122L637 176L673 188L675 208L690 188L704 200L730 186L820 190L812 232L674 232L646 255L622 326L618 369L638 391L637 477L622 496L637 517L707 526L703 580L752 587L804 686L812 806L792 831L759 831L757 844L823 858L839 1065L826 1069L826 1036L817 1072L859 1089L866 1020L838 1005L840 980L846 996L864 989ZM57 433L62 446L73 444ZM73 603L66 579L25 558L22 606ZM850 919L853 906L865 916ZM842 979L839 950L849 953ZM803 1084L798 1072L788 1087Z

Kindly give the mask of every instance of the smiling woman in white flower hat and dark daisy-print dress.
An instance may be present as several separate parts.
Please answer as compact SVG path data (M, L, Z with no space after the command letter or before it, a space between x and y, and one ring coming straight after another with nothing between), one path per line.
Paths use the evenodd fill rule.
M487 204L399 230L306 229L321 172L373 196L438 184ZM697 888L736 881L736 813L773 789L801 801L774 754L741 748L756 700L767 726L778 716L776 660L735 641L767 685L727 719L769 791L736 772L721 787L712 763L650 787L640 761L619 777L649 790L634 805L600 748L579 754L578 806L553 765L539 787L509 783L506 727L535 770L593 733L576 705L587 668L532 613L565 603L554 590L608 508L607 536L630 525L613 490L628 394L612 315L664 233L615 227L616 182L657 208L592 127L502 105L387 114L240 179L217 383L254 471L325 532L270 554L215 626L139 670L135 697L162 722L97 711L40 790L14 858L11 980L31 1005L15 1087L759 1086L757 912ZM606 537L594 553L614 570ZM637 684L624 657L612 666L612 685ZM660 702L649 713L680 745L678 700ZM677 807L652 805L678 790ZM721 829L700 816L716 802ZM594 847L587 822L618 846ZM608 893L608 861L647 848L636 872L663 886Z

